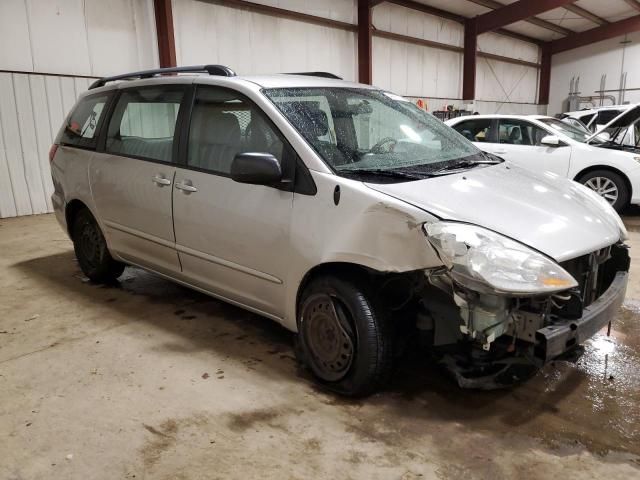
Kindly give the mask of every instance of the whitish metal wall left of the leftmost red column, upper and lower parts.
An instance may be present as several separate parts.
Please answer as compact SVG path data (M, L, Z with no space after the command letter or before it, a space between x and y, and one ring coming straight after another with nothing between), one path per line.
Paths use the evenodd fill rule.
M0 45L0 218L50 212L48 151L81 77L158 65L153 0L0 0Z

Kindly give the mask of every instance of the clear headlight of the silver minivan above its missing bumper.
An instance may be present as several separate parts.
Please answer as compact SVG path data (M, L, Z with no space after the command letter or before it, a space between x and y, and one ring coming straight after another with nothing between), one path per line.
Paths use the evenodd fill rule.
M452 278L472 290L526 296L578 285L553 260L491 230L436 222L424 231Z

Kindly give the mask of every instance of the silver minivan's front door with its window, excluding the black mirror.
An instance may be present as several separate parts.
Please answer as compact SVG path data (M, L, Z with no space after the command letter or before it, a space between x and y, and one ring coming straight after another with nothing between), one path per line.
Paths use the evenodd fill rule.
M198 87L186 165L178 167L173 187L182 275L278 318L284 310L293 193L233 181L231 162L241 152L271 153L284 172L293 161L290 147L254 103L233 90Z

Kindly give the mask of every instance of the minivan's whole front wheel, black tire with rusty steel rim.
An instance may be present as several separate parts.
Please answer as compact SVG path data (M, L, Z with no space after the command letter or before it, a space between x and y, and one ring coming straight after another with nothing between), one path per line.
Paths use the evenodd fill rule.
M337 324L333 336L327 327L330 317ZM364 278L325 275L312 280L298 304L296 342L299 359L316 379L342 395L370 395L390 379L392 328Z

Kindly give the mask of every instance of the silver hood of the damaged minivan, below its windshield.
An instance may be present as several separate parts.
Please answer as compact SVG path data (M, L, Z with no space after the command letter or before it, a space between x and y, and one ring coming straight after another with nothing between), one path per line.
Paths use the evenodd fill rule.
M557 262L620 239L612 209L553 173L505 162L395 184L366 184L443 219L472 223L524 243Z

